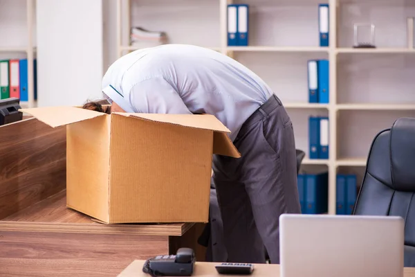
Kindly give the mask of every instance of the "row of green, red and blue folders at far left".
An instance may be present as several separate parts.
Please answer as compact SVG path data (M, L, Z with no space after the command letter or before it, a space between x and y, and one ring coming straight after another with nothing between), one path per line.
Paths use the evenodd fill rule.
M33 60L34 99L37 99L37 64ZM28 101L28 60L0 60L0 99Z

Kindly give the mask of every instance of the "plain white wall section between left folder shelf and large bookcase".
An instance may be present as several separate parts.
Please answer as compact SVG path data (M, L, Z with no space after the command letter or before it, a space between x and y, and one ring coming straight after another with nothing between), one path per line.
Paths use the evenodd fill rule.
M102 0L37 0L39 107L102 96Z

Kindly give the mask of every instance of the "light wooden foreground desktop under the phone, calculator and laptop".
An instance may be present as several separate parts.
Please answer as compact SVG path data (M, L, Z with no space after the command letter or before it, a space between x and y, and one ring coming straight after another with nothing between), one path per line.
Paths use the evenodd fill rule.
M131 264L124 269L118 277L149 277L148 274L142 272L142 265L144 264L144 260L134 260ZM214 268L214 265L217 263L215 262L196 262L194 265L194 273L193 276L195 277L218 277L224 276L219 275ZM234 277L243 277L246 275L232 275ZM261 277L279 277L279 265L255 265L254 272L252 277L261 276ZM404 269L404 277L415 277L415 268L414 267L407 267ZM295 277L303 277L303 276L295 276ZM304 276L306 277L306 276ZM353 276L351 276L353 277Z

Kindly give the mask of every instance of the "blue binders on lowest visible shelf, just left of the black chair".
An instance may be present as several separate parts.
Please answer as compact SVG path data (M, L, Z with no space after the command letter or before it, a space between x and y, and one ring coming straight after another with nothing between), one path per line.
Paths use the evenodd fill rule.
M356 175L336 176L336 214L351 215L357 197Z

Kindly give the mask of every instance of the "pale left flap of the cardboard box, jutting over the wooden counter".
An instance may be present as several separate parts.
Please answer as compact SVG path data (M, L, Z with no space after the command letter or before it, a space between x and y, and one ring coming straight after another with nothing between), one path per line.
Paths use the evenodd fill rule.
M70 106L39 107L19 109L19 111L31 114L38 120L54 128L80 122L82 120L88 120L98 116L107 116L107 114L101 113L99 111L91 111L89 109L80 109Z

